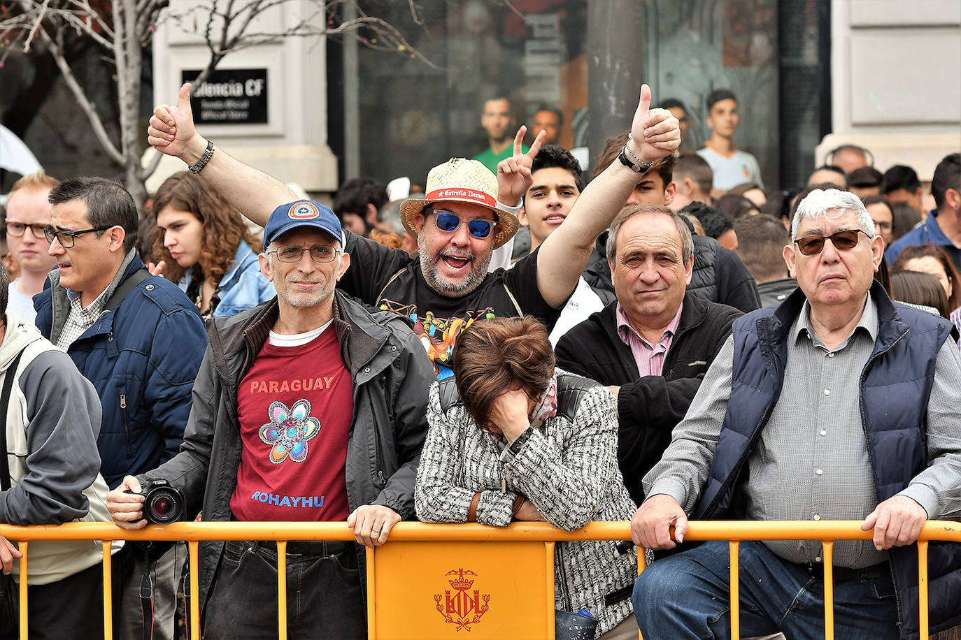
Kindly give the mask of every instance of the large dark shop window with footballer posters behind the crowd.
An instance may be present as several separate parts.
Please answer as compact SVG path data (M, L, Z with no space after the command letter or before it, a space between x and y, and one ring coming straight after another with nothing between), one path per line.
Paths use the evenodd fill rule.
M637 37L624 43L637 51L629 73L652 84L655 104L672 98L684 105L684 148L710 139L705 101L725 88L738 101L735 146L757 158L765 186L802 179L823 132L817 87L824 0L605 1L623 11L605 12L604 20L592 12L589 24L586 0L421 0L420 25L407 3L361 2L401 28L435 66L358 47L355 70L342 77L358 134L335 152L358 175L423 184L448 157L488 149L484 104L500 97L517 125L532 128L539 115L539 122L559 123L559 144L584 147L592 99L604 100L603 90L591 95L599 84L588 82L587 43L604 37L610 20L628 19L638 25ZM584 149L582 157L599 151Z

